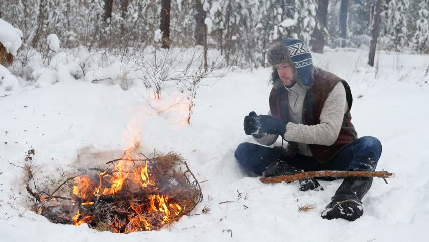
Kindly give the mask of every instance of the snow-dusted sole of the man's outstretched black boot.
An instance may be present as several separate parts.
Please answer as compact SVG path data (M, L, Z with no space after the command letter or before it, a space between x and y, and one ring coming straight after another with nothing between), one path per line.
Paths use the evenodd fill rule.
M342 218L348 221L354 221L364 214L364 205L356 200L344 200L335 204L333 208L325 209L322 212L322 218L331 220Z

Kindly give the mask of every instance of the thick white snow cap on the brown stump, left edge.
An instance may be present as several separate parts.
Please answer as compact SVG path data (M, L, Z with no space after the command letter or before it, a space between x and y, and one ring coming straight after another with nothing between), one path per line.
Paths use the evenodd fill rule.
M18 49L22 45L22 31L13 27L10 23L0 19L0 43L6 51L13 56L17 55Z

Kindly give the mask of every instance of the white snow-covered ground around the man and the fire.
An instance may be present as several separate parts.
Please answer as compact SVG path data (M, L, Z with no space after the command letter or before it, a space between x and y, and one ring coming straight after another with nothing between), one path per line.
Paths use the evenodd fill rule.
M313 55L317 66L347 80L354 97L353 124L359 136L380 139L377 170L396 173L385 184L375 179L363 199L364 215L355 222L320 217L341 181L320 181L324 191L301 192L298 184L262 184L247 177L234 160L250 111L266 113L269 68L235 70L218 81L204 79L196 92L191 124L186 123L186 91L167 83L161 100L134 82L129 90L61 78L36 88L16 88L0 98L1 241L425 241L429 235L429 56L379 54L368 67L368 52L328 50ZM376 74L377 73L377 74ZM48 77L47 77L48 78ZM157 113L147 101L160 110ZM147 153L181 153L201 184L203 201L170 229L131 234L97 232L53 224L29 210L22 165L34 148L36 175L59 177L70 166L88 167L94 154L118 158L132 135ZM280 141L278 141L281 144ZM78 154L80 157L78 159ZM115 157L116 155L116 157ZM238 192L242 198L238 199ZM223 203L223 201L234 201ZM298 211L313 203L312 211ZM203 214L202 207L211 210ZM248 208L246 208L247 206ZM226 231L231 230L231 231Z

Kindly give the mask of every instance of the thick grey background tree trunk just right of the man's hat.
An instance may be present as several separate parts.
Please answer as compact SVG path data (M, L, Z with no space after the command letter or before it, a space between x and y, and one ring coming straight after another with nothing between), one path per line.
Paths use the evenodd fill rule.
M316 28L314 28L313 31L313 46L311 48L315 53L323 54L323 46L325 45L324 28L328 22L328 3L329 0L319 0L319 6L316 13L319 23L317 23Z

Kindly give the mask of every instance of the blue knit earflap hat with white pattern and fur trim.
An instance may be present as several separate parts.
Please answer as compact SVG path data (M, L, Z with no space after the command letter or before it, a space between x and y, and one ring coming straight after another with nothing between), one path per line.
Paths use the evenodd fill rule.
M299 39L283 39L268 51L268 62L272 65L280 63L293 63L296 74L304 86L313 84L313 60L307 44Z

